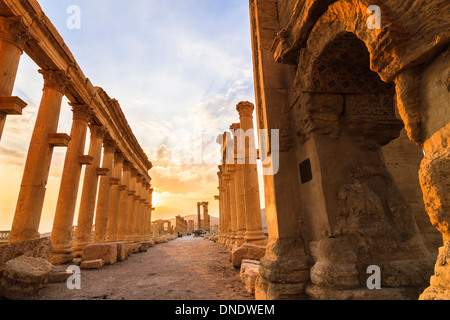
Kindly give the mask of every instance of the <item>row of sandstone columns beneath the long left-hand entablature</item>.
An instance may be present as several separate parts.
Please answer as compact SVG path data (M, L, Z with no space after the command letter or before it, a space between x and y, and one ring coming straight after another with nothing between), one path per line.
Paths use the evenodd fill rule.
M0 138L6 115L20 114L26 106L11 94L28 39L20 18L0 17ZM153 189L148 174L139 172L125 159L108 130L95 122L89 105L72 104L71 134L58 133L62 99L70 86L70 78L62 70L39 72L44 79L44 88L9 241L28 241L40 236L39 224L55 147L67 147L67 153L52 230L54 262L70 261L73 250L80 252L91 242L150 239ZM91 133L89 154L84 155L88 127ZM87 167L76 240L72 247L72 226L84 165ZM92 237L94 214L95 233Z

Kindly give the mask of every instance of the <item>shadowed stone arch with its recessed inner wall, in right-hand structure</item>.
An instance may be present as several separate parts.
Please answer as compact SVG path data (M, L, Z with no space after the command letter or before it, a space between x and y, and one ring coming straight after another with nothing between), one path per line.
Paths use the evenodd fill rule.
M319 19L294 82L298 149L307 150L298 160L316 162L312 175L318 177L300 189L315 260L306 291L319 299L417 298L433 260L381 153L404 124L396 116L395 85L373 71L380 45L361 31L363 21L367 29L361 8L344 10L353 15L339 20L344 11L331 7ZM315 201L311 190L321 191L321 208L308 208ZM383 293L365 288L370 265L384 273Z

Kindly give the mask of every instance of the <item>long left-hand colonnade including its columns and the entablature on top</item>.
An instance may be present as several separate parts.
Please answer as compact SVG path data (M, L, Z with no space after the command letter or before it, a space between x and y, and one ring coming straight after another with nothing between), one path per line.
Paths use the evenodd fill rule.
M20 114L26 106L20 98L11 97L23 52L41 68L44 88L9 242L40 236L39 223L55 147L67 148L67 153L51 234L54 246L51 262L69 262L91 243L150 240L152 163L133 135L118 101L102 88L94 87L83 75L34 0L0 1L0 138L7 115ZM70 135L57 132L63 96L69 99L73 112ZM73 243L72 227L83 166L86 171Z

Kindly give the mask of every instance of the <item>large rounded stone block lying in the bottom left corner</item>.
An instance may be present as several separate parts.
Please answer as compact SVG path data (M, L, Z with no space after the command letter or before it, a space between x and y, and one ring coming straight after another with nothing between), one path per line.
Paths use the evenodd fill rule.
M20 256L9 260L0 278L0 296L20 300L36 293L48 282L54 266L47 260Z

